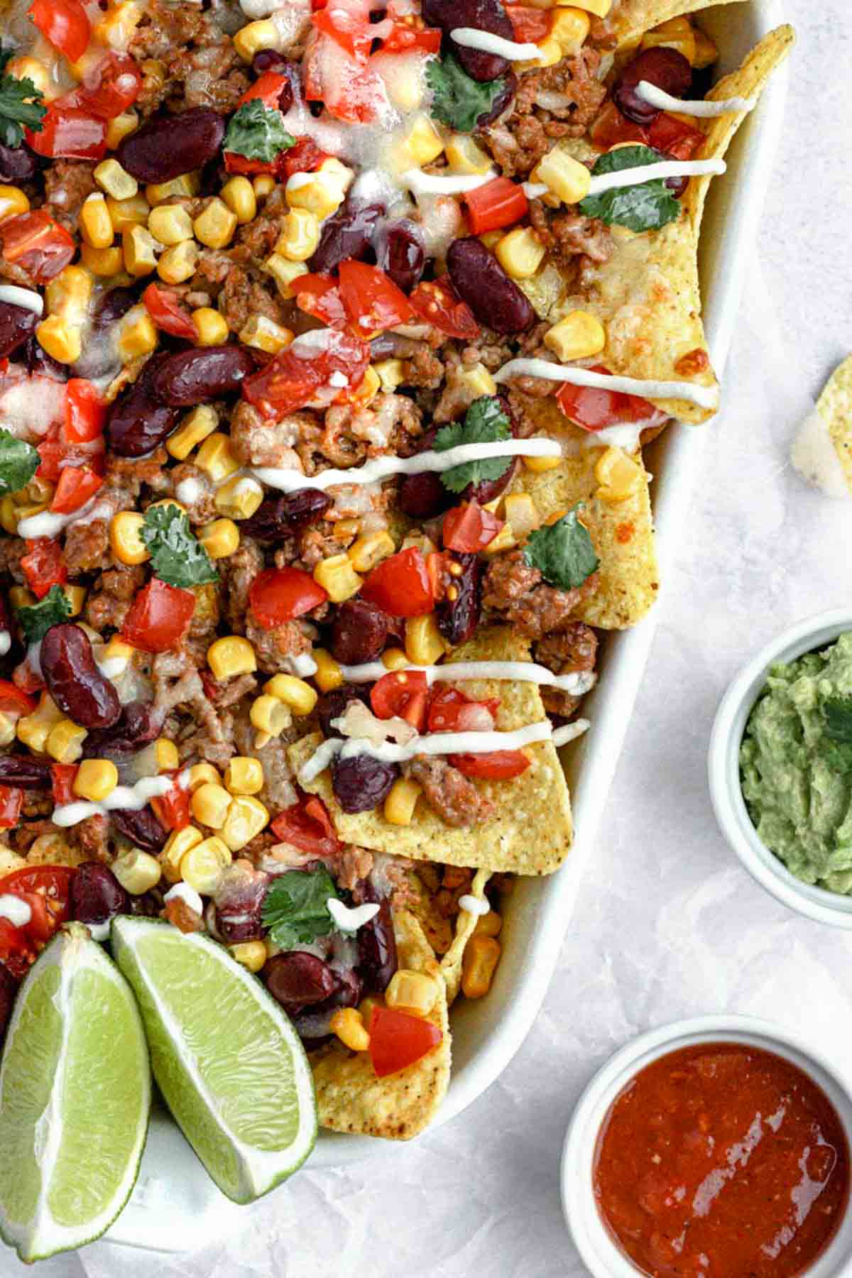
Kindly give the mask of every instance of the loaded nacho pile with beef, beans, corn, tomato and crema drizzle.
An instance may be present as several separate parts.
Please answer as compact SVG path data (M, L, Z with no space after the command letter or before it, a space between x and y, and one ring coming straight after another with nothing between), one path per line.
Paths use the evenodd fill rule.
M704 201L792 32L719 79L696 8L6 10L0 1011L158 915L326 1126L436 1113L657 596L643 447L719 403Z

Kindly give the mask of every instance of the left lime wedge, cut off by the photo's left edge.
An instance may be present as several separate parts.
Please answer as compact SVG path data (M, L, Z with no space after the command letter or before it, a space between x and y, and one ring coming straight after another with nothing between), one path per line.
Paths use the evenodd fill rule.
M70 924L20 987L0 1063L0 1233L22 1260L109 1228L137 1178L149 1109L133 993Z

